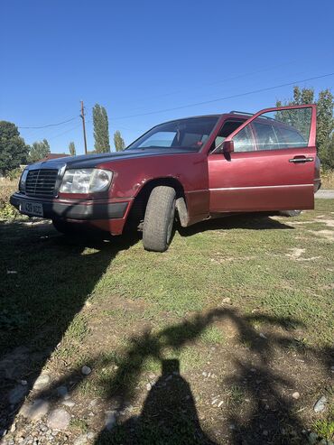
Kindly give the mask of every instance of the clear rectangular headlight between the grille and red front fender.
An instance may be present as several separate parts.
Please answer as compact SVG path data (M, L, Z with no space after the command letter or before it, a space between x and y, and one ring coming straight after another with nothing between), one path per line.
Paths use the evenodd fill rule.
M62 178L62 193L96 193L108 189L113 172L101 169L67 170Z

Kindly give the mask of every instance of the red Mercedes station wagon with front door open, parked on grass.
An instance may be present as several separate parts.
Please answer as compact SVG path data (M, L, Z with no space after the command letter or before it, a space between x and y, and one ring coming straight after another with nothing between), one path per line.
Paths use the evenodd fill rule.
M79 225L112 235L139 228L144 248L163 252L176 216L188 227L228 213L313 209L315 139L314 105L176 119L121 153L29 165L11 203L51 218L63 233Z

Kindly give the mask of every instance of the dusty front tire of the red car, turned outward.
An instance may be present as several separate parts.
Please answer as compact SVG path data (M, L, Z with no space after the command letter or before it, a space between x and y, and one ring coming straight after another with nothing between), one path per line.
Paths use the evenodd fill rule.
M176 192L172 187L155 187L148 199L143 227L145 250L164 252L172 240Z

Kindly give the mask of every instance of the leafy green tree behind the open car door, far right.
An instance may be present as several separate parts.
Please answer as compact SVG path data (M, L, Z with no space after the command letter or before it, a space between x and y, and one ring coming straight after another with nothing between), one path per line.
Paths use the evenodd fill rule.
M276 102L276 107L288 105L317 104L317 148L322 166L326 169L334 169L333 158L333 106L334 96L329 89L320 91L318 99L314 97L313 88L293 88L293 99L287 102ZM301 115L300 115L301 116Z

